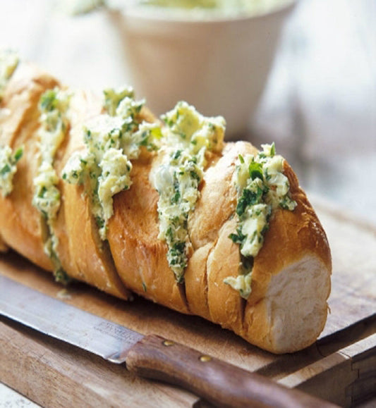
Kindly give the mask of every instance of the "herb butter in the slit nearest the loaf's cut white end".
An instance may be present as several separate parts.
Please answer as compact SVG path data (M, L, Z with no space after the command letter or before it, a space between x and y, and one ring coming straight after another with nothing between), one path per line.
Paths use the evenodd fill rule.
M296 202L289 195L289 179L283 173L284 159L274 144L263 144L257 156L239 155L233 181L237 190L238 224L231 240L240 246L241 266L236 278L224 283L238 290L241 297L250 295L253 259L264 242L272 211L281 207L293 211Z

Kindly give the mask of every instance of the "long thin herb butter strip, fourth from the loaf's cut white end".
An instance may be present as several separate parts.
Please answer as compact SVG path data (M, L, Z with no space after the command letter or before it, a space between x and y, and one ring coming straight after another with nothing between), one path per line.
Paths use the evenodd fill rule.
M54 265L56 280L67 283L68 276L57 254L59 240L54 234L54 221L60 208L59 176L54 169L54 157L68 131L68 108L71 94L59 88L49 89L40 98L40 123L38 132L40 163L33 183L32 204L41 212L47 224L44 252Z

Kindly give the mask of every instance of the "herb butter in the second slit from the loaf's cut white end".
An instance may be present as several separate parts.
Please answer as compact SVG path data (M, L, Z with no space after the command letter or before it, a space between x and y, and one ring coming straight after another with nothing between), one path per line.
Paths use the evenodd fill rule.
M225 122L222 117L205 118L186 102L179 102L162 119L164 161L152 182L159 193L159 238L168 245L169 266L181 283L191 247L188 216L200 195L205 154L222 149Z

